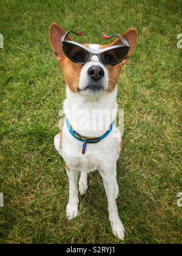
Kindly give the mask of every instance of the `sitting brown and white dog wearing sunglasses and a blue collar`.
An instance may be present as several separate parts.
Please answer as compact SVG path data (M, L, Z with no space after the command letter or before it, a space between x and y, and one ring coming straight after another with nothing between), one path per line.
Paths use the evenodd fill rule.
M66 120L54 143L66 162L69 177L67 218L71 220L78 216L78 193L86 193L88 173L98 170L106 190L113 235L124 240L124 226L116 206L116 162L123 145L120 131L115 125L116 96L121 69L136 46L136 29L129 29L121 36L104 35L105 39L117 37L109 44L75 43L69 37L70 32L82 35L82 32L66 32L56 23L52 23L49 29L50 46L66 79ZM112 114L109 118L107 115L105 119L98 119L93 110L109 110ZM98 124L102 129L92 129ZM78 172L81 172L79 182Z

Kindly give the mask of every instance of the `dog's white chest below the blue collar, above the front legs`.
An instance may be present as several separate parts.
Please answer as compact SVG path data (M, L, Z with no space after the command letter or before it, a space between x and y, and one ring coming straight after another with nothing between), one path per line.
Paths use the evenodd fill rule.
M114 131L96 144L87 144L86 153L82 154L83 142L70 135L66 125L62 130L62 157L71 168L79 171L95 171L112 165L117 158L118 138Z

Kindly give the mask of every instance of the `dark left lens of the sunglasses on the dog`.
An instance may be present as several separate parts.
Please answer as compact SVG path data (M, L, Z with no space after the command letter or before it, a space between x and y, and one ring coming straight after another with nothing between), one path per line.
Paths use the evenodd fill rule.
M89 59L89 52L76 44L64 42L62 49L67 57L73 62L84 63Z

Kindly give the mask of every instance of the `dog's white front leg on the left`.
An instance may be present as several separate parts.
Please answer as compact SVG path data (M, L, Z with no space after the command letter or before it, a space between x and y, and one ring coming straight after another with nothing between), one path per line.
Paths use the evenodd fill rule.
M78 171L66 167L67 176L69 177L69 203L66 207L66 215L69 221L78 215Z

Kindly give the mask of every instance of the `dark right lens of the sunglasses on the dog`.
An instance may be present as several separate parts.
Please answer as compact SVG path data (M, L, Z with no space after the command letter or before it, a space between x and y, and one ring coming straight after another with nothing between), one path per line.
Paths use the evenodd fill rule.
M110 49L101 54L101 61L104 65L115 65L116 63L120 63L127 56L128 48L114 48Z

